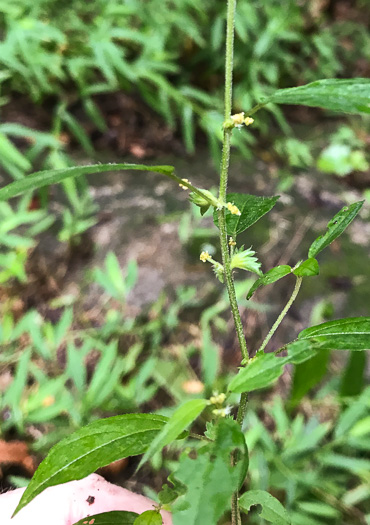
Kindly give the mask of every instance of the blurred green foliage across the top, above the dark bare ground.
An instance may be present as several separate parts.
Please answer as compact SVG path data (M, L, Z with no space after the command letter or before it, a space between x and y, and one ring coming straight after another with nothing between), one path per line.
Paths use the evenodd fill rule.
M360 1L356 4L358 10L364 8ZM71 105L79 101L86 116L103 130L104 117L94 96L119 90L139 93L170 127L182 127L189 152L195 149L200 128L218 158L223 2L206 0L200 6L195 0L93 0L87 5L77 0L62 5L56 0L0 0L0 13L2 104L15 93L36 103L48 97L54 118L92 154ZM361 61L370 58L370 37L358 20L351 10L347 18L335 17L319 3L240 0L235 110L247 111L279 87L353 76ZM268 111L289 134L278 106L270 105ZM266 114L254 127L266 135L270 121ZM252 142L249 133L234 138L245 155ZM21 164L26 167L24 161Z

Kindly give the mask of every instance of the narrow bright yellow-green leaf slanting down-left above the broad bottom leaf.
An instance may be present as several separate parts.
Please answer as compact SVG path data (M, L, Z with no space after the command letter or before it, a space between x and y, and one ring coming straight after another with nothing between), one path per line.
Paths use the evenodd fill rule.
M203 412L207 405L208 401L206 399L191 399L175 410L161 432L153 439L150 447L142 457L138 469L154 454L160 452L163 447L174 441Z

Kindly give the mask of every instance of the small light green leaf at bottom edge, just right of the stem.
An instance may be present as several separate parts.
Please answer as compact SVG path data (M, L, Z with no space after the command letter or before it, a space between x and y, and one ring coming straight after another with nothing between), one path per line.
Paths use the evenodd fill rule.
M240 507L249 511L253 505L261 505L260 517L274 525L290 525L287 511L280 501L264 490L250 490L239 499Z

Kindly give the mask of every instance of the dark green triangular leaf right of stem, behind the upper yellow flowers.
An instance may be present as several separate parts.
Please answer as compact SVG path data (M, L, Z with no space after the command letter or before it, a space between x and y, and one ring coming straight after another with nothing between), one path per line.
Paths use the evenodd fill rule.
M252 226L252 224L272 210L278 199L279 196L257 197L244 193L229 193L226 196L226 200L237 206L240 215L233 215L229 210L225 210L228 235L232 235L235 238L238 233ZM217 210L213 212L213 221L218 227Z

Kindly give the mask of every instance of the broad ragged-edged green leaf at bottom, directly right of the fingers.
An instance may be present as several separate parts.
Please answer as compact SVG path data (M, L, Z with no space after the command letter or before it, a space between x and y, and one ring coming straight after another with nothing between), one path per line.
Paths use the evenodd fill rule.
M172 506L173 525L215 525L226 510L235 490L240 487L245 460L233 466L231 453L245 458L244 435L233 419L217 424L216 441L198 450L196 459L182 455L173 477L186 491Z

